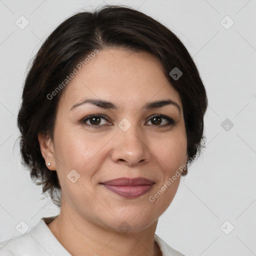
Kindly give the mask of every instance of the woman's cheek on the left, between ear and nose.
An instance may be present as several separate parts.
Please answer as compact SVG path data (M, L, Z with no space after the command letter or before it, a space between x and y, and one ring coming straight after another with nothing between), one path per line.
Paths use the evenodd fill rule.
M71 170L76 170L79 182L90 182L95 170L100 168L104 161L104 146L109 140L96 138L91 133L81 130L62 129L55 137L56 166L62 184L68 182L66 176Z

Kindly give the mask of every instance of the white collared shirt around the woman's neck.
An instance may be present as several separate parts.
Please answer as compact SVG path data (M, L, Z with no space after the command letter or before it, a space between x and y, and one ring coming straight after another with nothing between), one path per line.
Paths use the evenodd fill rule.
M56 216L41 218L24 234L0 242L0 256L72 256L46 225ZM157 242L162 256L184 256L156 234L154 234L154 240Z

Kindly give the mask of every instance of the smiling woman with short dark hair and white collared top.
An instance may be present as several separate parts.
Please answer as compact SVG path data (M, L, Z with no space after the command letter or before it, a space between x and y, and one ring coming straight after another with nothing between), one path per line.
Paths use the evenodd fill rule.
M60 206L0 255L183 255L154 232L202 148L205 88L181 41L126 6L62 22L18 113L31 178Z

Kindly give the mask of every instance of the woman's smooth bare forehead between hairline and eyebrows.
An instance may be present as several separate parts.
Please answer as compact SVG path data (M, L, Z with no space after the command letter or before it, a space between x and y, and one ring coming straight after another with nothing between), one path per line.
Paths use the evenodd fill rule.
M63 107L70 108L86 97L130 108L149 100L170 98L182 108L178 92L155 56L120 48L104 49L91 57L68 82L59 105L64 102Z

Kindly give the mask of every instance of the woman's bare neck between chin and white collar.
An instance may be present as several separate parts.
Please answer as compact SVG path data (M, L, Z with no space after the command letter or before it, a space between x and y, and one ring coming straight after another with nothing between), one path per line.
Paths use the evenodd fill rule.
M162 255L158 244L154 241L158 219L144 230L136 232L129 230L124 233L103 227L74 212L67 214L62 206L59 215L47 226L71 255Z

